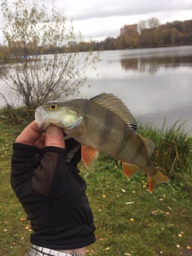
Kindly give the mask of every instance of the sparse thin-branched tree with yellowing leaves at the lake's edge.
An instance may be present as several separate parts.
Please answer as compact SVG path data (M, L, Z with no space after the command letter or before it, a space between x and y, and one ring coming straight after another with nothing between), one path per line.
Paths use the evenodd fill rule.
M76 95L87 80L86 69L100 61L100 52L78 52L81 34L74 32L73 24L66 28L65 16L54 5L50 16L36 0L1 2L8 57L14 56L3 72L7 90L28 108Z

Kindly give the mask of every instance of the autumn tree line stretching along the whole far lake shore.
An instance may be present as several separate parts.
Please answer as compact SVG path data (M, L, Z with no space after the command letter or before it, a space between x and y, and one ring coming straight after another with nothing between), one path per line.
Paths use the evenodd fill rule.
M124 29L129 27L128 29ZM140 20L138 24L125 25L124 31L116 38L108 36L103 41L81 38L69 41L63 46L52 44L42 46L33 41L8 41L8 46L0 46L0 60L19 56L26 58L31 55L44 55L68 52L91 52L105 50L141 49L192 45L192 20L175 20L160 24L156 18ZM19 52L18 52L19 49Z

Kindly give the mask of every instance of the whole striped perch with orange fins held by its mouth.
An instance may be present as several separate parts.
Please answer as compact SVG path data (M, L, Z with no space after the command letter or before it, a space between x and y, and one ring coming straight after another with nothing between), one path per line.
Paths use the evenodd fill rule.
M88 170L92 170L102 152L122 162L128 180L139 168L143 169L150 193L157 183L169 182L150 160L154 142L136 132L135 118L112 93L104 92L91 99L47 101L36 108L35 120L42 132L52 123L63 129L63 140L74 138L79 142Z

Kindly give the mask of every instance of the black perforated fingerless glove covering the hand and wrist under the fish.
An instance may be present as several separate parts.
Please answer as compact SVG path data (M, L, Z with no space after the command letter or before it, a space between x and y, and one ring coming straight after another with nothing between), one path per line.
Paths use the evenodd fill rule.
M66 162L67 152L57 147L38 151L26 144L13 144L12 188L32 213L28 219L36 223L30 241L56 250L76 249L95 241L86 183L75 167L77 162Z

